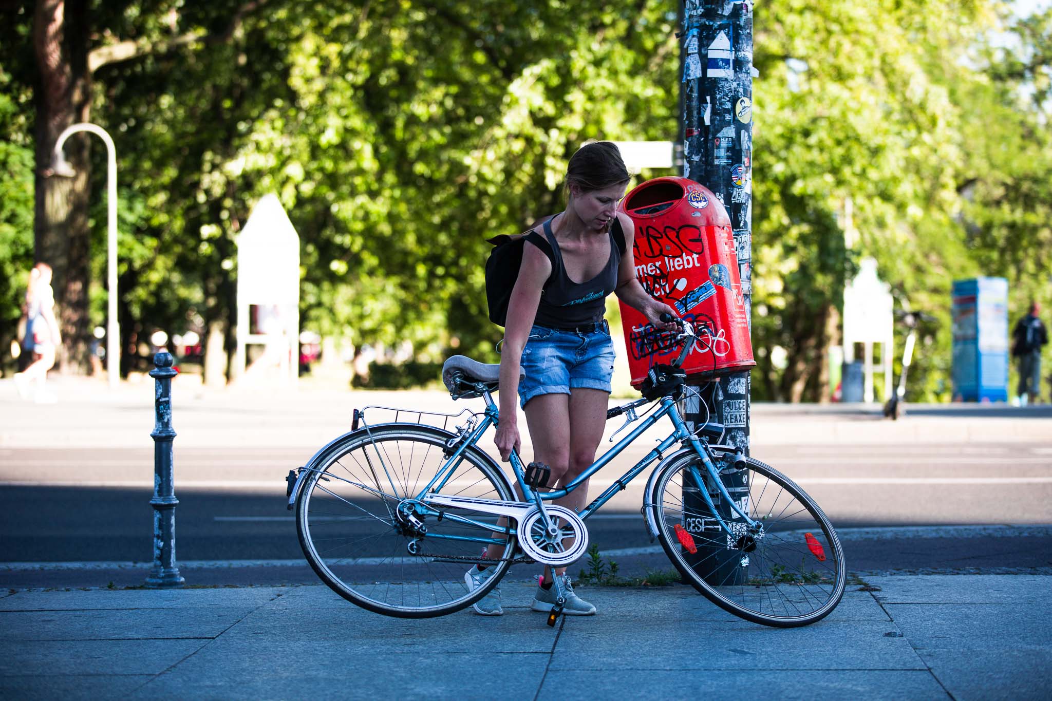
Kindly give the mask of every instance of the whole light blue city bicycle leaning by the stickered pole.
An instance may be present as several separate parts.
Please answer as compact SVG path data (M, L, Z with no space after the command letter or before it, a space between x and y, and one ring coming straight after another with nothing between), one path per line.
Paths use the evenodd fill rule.
M683 345L679 357L651 368L642 398L607 412L607 419L626 417L610 440L640 420L639 407L653 406L561 489L542 491L546 466L523 465L513 452L518 497L504 471L478 447L500 419L492 398L499 365L458 355L443 367L452 398L483 397L482 412L409 410L418 416L413 422L399 420L406 410L356 410L349 433L288 475L288 509L296 509L300 544L310 566L340 596L368 611L401 618L451 614L488 594L514 563L560 568L575 562L588 548L585 520L656 461L641 512L651 541L661 542L685 581L721 609L755 623L792 627L827 616L839 603L846 578L832 524L777 470L734 446L710 444L710 438L723 437L719 424L688 430L677 405L686 395L681 366L701 339L691 324L669 321L680 328L674 338ZM370 410L393 411L394 421L370 425ZM425 414L426 420L441 418L442 426L426 424ZM580 513L548 503L595 474L665 416L672 432ZM462 417L463 424L449 430L449 422ZM499 525L502 518L504 525ZM503 547L497 559L483 557L491 544ZM497 571L469 591L464 569L474 564ZM562 613L558 578L555 586L549 625Z

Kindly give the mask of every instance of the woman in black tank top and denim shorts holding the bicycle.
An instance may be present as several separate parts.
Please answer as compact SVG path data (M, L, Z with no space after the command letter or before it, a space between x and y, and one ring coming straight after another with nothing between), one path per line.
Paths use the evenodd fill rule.
M501 420L494 441L503 460L521 445L515 395L526 414L533 459L551 469L548 483L561 488L595 459L603 437L613 374L613 344L603 321L606 297L615 292L659 328L663 312L675 311L647 294L635 279L634 226L616 211L629 176L618 147L596 142L581 147L566 170L566 209L544 220L526 239L522 267L508 303L501 354ZM582 282L576 282L582 281ZM519 383L520 368L524 373ZM587 482L555 503L580 511ZM487 557L500 557L491 545ZM464 579L476 589L492 570L472 565ZM595 606L573 593L565 569L557 570L565 614L589 616ZM544 569L531 609L555 603L552 572ZM500 585L474 604L483 616L500 616Z

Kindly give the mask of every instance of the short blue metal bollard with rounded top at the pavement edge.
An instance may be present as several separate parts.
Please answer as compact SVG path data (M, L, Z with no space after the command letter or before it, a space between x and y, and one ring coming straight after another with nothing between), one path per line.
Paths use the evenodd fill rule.
M149 376L157 380L154 412L154 569L146 577L146 586L168 589L182 586L186 581L176 566L176 478L173 471L171 441L176 432L171 428L171 378L179 371L171 367L171 353L154 356L156 369Z

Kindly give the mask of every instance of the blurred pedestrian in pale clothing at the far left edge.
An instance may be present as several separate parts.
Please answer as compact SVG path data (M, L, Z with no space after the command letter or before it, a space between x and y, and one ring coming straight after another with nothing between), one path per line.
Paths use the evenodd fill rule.
M15 386L24 398L39 404L52 404L55 395L44 387L47 371L55 366L55 353L62 337L55 321L55 291L52 289L52 267L38 263L29 271L25 291L22 353L29 359L23 372L15 373Z

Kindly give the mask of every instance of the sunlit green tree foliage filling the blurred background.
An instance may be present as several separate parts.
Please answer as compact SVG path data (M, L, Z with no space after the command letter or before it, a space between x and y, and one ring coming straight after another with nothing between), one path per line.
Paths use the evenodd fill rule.
M219 324L231 348L237 235L276 192L301 236L304 328L357 347L408 339L425 362L451 348L495 359L484 240L557 211L585 140L677 130L667 0L85 2L90 116L118 148L130 345ZM41 119L33 12L12 4L0 11L13 27L0 42L5 319L29 260ZM754 12L754 395L824 393L845 280L873 255L903 304L940 314L918 354L918 387L935 396L954 277L1008 276L1013 312L1020 295L1052 302L1049 14L1017 20L987 0ZM104 211L93 195L92 325L105 313Z

